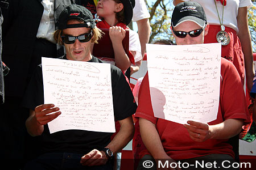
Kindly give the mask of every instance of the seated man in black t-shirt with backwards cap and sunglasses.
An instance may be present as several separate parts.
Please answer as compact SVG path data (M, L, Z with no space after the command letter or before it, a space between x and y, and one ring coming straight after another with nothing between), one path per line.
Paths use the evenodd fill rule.
M59 29L54 36L59 44L64 44L67 52L61 59L102 62L90 53L91 43L97 42L101 33L95 27L92 14L85 7L74 4L65 8L60 14ZM30 117L26 121L27 131L39 139L42 154L28 163L26 169L113 168L113 155L133 138L131 115L135 113L137 105L122 71L111 66L111 75L114 118L121 125L112 141L112 133L96 131L63 130L50 134L47 123L58 117L61 111L54 104L44 104L42 67L37 67L23 105L30 108Z

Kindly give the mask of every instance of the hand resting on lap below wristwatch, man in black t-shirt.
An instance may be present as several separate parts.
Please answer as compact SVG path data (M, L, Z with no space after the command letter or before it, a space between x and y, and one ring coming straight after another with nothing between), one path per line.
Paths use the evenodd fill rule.
M97 165L105 165L108 162L108 158L106 157L104 151L98 151L96 149L90 151L88 154L82 156L80 163L84 166L97 166Z

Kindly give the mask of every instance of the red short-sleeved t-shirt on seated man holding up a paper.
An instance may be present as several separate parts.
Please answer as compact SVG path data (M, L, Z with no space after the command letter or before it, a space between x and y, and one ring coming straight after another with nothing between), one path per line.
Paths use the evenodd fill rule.
M208 124L219 124L229 118L241 118L245 120L245 125L248 124L250 116L245 109L245 94L241 79L236 68L223 58L221 58L221 79L217 119ZM189 159L209 154L229 154L234 158L232 146L226 143L227 140L208 139L205 142L195 142L189 137L188 131L183 125L154 117L148 74L144 76L140 90L139 105L135 117L145 118L156 125L164 150L172 159ZM145 151L143 152L146 154ZM138 154L143 156L141 153Z

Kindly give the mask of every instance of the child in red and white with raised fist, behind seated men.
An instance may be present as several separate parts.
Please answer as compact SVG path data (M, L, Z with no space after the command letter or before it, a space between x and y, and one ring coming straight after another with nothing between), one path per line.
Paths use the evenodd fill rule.
M133 5L131 1L101 0L98 1L96 8L97 15L102 18L102 22L98 22L97 27L109 28L109 36L114 49L114 58L112 60L115 66L119 67L123 73L131 66L131 63L138 65L142 61L138 33L127 27L127 24L131 22L131 18L133 17ZM129 54L125 53L122 45L126 30L129 30ZM100 59L108 62L110 58L101 57Z

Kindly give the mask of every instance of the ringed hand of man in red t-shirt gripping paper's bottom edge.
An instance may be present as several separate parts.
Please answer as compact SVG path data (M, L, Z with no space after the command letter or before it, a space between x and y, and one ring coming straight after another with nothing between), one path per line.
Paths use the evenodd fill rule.
M203 124L195 121L187 121L188 125L184 127L188 130L189 136L193 141L204 142L211 137L212 131L208 124Z

